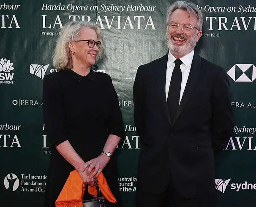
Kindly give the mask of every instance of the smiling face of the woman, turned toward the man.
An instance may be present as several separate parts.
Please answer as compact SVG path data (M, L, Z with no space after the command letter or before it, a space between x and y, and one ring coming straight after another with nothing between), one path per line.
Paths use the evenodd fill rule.
M95 42L97 42L98 37L93 29L82 27L77 40L94 40ZM71 56L73 57L73 65L78 64L86 67L94 65L98 50L99 49L96 45L94 45L93 48L90 48L88 45L88 41L72 42ZM72 51L75 52L74 55Z

